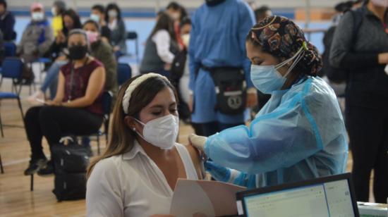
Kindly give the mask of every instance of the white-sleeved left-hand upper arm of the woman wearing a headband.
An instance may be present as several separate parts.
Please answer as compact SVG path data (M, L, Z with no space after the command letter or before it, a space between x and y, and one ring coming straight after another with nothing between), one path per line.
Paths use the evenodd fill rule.
M123 216L119 171L110 159L96 164L87 180L87 216Z

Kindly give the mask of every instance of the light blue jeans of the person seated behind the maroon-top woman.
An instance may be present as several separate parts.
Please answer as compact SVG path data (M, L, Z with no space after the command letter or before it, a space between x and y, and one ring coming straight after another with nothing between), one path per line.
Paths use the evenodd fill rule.
M47 88L50 88L50 98L54 99L56 94L56 82L58 80L59 70L61 66L68 63L67 61L55 61L50 66L49 70L47 70L47 75L44 77L44 81L42 82L42 86L40 90L42 92L46 92Z

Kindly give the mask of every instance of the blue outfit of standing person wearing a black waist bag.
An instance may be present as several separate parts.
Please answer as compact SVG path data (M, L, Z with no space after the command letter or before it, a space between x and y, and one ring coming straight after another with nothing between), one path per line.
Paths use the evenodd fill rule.
M203 4L195 11L189 44L189 87L194 93L194 123L243 123L243 113L236 116L214 111L216 94L209 72L200 68L221 66L242 67L247 87L250 61L246 57L245 37L255 23L253 11L242 0L226 0L217 6Z

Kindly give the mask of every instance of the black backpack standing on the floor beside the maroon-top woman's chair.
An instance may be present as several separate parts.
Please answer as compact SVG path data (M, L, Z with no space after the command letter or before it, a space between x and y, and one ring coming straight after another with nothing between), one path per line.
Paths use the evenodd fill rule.
M86 169L89 165L87 149L73 138L67 145L60 143L51 147L54 160L54 190L56 199L85 199Z

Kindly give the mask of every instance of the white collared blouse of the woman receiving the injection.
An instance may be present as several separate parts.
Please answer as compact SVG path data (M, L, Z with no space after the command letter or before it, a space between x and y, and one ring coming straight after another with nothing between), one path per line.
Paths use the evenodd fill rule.
M183 144L175 144L190 180L198 180ZM169 214L173 191L156 163L135 142L131 151L99 161L87 180L87 216Z

